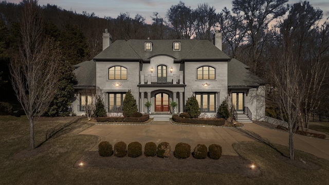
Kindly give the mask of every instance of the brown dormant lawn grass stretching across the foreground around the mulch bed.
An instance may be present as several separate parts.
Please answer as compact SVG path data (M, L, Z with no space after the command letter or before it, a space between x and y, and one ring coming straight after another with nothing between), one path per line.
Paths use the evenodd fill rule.
M298 160L318 167L302 169L280 159L278 151L288 155L287 147L275 145L275 150L260 142L233 144L239 155L261 170L260 176L252 178L227 173L75 168L77 160L100 140L78 134L91 125L86 120L36 122L35 143L42 144L33 154L28 150L27 119L0 116L0 184L329 184L329 161L296 151ZM52 135L46 139L49 133Z

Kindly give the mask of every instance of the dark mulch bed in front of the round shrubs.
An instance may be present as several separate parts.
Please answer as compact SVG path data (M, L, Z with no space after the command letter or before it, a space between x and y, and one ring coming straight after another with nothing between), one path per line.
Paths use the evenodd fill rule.
M83 165L79 164L83 162ZM184 171L239 174L247 177L257 177L261 171L250 169L250 161L239 156L222 156L218 160L206 158L177 159L173 154L168 158L146 157L144 155L132 157L101 157L98 151L89 151L77 160L75 168L108 168L121 170L147 170L147 171Z

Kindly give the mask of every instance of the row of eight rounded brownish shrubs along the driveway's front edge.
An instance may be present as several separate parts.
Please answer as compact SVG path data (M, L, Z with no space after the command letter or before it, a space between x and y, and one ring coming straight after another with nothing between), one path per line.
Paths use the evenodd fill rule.
M139 142L132 142L126 145L125 142L120 141L114 144L114 149L108 141L102 141L98 145L98 153L100 156L116 156L124 157L139 157L142 155L142 145ZM171 146L168 142L161 142L156 145L154 142L148 142L144 146L144 155L147 157L158 156L161 158L169 157L171 153ZM219 159L222 156L222 146L218 144L211 144L207 148L204 144L198 144L194 147L191 153L191 146L188 143L177 143L175 146L174 156L178 159L185 159L190 155L196 159L205 159L207 156L211 159Z

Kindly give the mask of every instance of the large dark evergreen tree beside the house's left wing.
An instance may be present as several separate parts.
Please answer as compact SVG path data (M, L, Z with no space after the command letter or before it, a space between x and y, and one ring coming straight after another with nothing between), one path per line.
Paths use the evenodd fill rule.
M60 64L59 86L57 92L46 109L45 116L69 116L73 113L72 100L74 98L74 83L76 76L73 72L73 67L64 59Z

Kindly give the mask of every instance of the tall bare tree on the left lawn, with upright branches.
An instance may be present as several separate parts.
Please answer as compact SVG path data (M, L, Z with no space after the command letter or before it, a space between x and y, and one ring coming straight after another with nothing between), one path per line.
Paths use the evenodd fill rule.
M38 1L23 1L19 55L10 63L13 89L30 124L30 149L34 149L34 117L44 113L59 79L61 52L43 34Z

